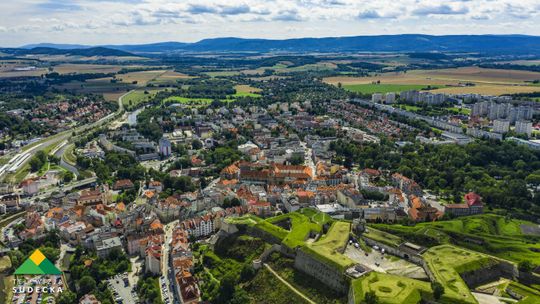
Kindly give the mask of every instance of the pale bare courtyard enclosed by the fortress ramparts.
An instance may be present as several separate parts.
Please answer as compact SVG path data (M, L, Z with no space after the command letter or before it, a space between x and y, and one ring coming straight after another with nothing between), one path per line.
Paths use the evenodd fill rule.
M374 271L405 276L413 279L426 279L427 275L422 267L409 261L382 253L372 249L370 253L360 248L349 245L345 249L345 255L359 264L365 265Z

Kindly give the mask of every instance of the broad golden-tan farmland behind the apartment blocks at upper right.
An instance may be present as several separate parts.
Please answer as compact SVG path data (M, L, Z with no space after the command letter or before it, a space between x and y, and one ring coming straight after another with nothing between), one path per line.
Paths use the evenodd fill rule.
M537 72L463 67L391 72L369 77L328 77L324 81L333 85L341 83L344 88L352 85L369 85L380 81L381 85L440 86L439 89L433 90L433 93L501 95L538 91L538 87L526 83L526 81L537 79L540 79L540 73ZM465 86L465 83L473 85Z

